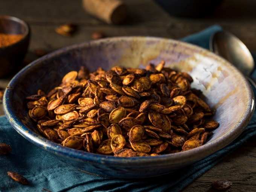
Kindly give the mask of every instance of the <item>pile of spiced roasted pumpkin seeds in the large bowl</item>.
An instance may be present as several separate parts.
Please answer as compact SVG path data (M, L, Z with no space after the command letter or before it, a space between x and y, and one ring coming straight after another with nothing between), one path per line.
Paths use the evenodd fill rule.
M219 126L192 82L165 61L93 73L81 67L48 94L28 96L27 108L44 137L69 148L117 157L169 154L203 145Z

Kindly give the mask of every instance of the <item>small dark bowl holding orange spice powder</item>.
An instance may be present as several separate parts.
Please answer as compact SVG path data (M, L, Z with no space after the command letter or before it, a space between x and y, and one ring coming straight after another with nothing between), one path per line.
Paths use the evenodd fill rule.
M0 47L0 78L15 73L22 65L30 40L29 25L19 18L7 15L0 16L0 33L21 34L23 38L9 46Z

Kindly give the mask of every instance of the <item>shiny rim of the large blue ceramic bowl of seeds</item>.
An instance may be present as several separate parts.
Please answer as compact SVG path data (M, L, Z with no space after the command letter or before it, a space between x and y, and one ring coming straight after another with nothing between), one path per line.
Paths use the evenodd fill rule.
M236 72L238 72L238 75L240 75L241 81L244 82L245 89L248 91L248 107L245 111L244 116L239 120L238 123L226 134L222 135L221 137L213 140L210 143L206 143L203 146L190 149L187 151L182 151L174 154L164 154L159 156L149 156L149 157L114 157L110 155L102 155L102 154L94 154L89 153L85 151L80 151L76 149L71 149L64 147L62 145L59 145L55 142L52 142L34 131L31 131L29 128L27 128L20 120L19 117L15 115L14 109L12 108L12 101L10 101L9 98L12 98L12 94L14 90L12 87L17 84L19 81L18 79L23 76L23 74L26 72L26 70L30 69L31 67L36 66L41 61L44 61L48 58L53 58L58 55L61 55L62 53L69 52L73 49L78 49L79 47L84 46L90 46L93 43L104 43L107 41L123 41L123 40L133 40L136 38L136 40L165 40L170 43L178 43L182 46L191 48L193 50L197 51L203 51L206 56L210 56L213 59L217 59L221 63L226 63L229 67L233 68ZM251 102L250 102L251 101ZM20 72L18 72L9 82L8 86L6 87L4 96L3 96L3 108L5 111L5 115L11 125L14 127L14 129L21 134L21 136L25 137L30 142L34 143L37 146L40 146L41 148L45 149L46 151L52 152L53 154L72 158L78 161L82 162L94 162L94 163L104 163L104 164L118 164L118 165L134 165L139 166L141 163L162 163L161 165L171 165L171 164L181 164L181 163L187 163L187 160L189 160L191 163L201 160L202 158L207 157L208 155L213 154L214 152L224 148L229 143L231 143L234 139L236 139L242 131L244 131L245 126L250 121L255 107L255 99L254 94L251 89L250 84L248 81L244 78L241 72L237 70L232 64L230 64L225 59L219 57L218 55L215 55L214 53L210 52L209 50L203 49L199 46L195 46L186 42L178 41L178 40L172 40L168 38L160 38L160 37L145 37L145 36L129 36L129 37L112 37L112 38L104 38L101 40L93 40L93 41L87 41L84 43L74 44L72 46L63 47L61 49L58 49L52 53L49 53L41 58L38 58L37 60L31 62L29 65L24 67Z

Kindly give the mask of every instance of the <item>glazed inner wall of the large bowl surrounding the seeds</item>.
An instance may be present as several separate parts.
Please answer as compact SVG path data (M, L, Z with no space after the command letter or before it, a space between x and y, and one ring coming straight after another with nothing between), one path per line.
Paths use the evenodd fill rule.
M166 67L188 72L193 77L192 87L203 91L207 103L216 109L213 119L220 123L205 145L179 154L204 150L198 157L190 158L205 157L229 144L242 132L254 105L250 85L241 73L207 50L163 38L110 38L63 48L46 55L12 79L5 94L5 112L11 116L10 122L16 121L22 125L16 128L17 131L29 128L38 133L35 123L27 114L26 96L36 94L38 89L46 92L51 90L61 83L62 76L71 70L79 70L80 66L86 66L90 71L98 67L107 70L115 65L144 68L149 62L158 64L161 60L166 61ZM46 140L38 138L44 142Z

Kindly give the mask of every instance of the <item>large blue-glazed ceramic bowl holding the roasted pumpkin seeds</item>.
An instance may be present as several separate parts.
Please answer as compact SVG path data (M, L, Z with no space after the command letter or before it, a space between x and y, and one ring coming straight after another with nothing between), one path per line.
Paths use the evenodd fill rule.
M198 148L156 157L121 158L70 149L40 136L27 115L25 97L40 88L49 91L70 70L86 66L91 71L114 65L145 67L165 60L168 67L190 73L192 87L201 89L214 119L220 123L209 141ZM235 102L234 102L235 101ZM61 161L99 175L142 178L166 174L201 160L239 136L254 111L250 85L235 67L200 47L153 37L118 37L91 41L59 49L21 70L6 89L3 106L14 129L30 142L57 155Z

